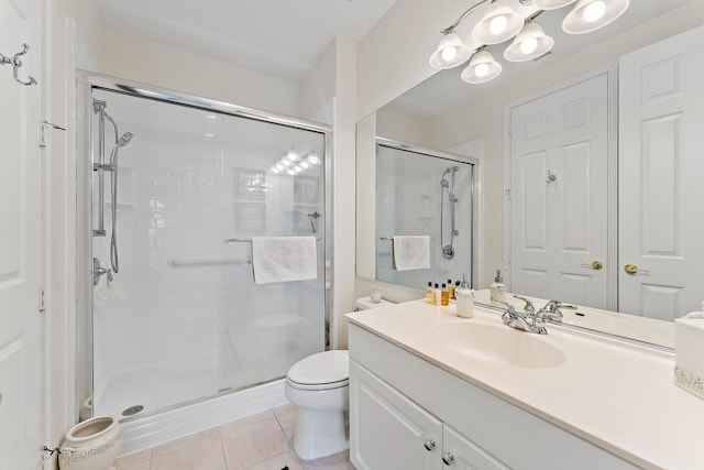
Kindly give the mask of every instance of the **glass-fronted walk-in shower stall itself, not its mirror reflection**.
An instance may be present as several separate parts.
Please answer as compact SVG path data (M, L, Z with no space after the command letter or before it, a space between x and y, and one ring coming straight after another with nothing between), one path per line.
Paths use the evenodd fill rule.
M327 349L330 130L85 77L78 367L92 414L178 409ZM253 237L315 237L317 277L256 284Z

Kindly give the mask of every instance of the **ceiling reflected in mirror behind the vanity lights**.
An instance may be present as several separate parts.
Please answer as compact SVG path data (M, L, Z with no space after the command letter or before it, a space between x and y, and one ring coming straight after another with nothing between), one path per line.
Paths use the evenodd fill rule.
M519 0L512 1L514 2L516 11L524 13L524 15L530 15L531 12L536 11L534 7L521 7ZM421 119L439 116L462 103L475 100L488 90L504 87L514 80L538 70L540 67L556 63L586 45L598 43L612 35L629 30L669 10L681 7L688 1L690 0L631 1L628 10L614 23L592 33L575 35L566 34L562 31L562 20L572 10L571 6L559 10L544 11L536 19L536 22L543 28L546 34L554 39L554 47L550 54L536 61L510 63L503 57L504 50L509 42L488 46L487 50L493 54L494 58L503 65L502 74L497 78L481 85L470 85L460 78L460 74L466 65L441 70L388 103L385 109ZM475 14L464 20L460 28L458 28L458 33L460 33L463 40L471 37L471 29L482 14L483 11L475 12ZM438 34L438 42L439 41L440 34ZM471 47L476 46L472 42L468 44Z

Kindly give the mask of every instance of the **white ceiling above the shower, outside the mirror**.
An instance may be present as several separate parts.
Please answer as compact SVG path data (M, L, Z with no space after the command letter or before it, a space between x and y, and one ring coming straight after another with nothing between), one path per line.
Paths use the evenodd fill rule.
M336 37L358 41L395 0L98 0L105 24L300 81Z

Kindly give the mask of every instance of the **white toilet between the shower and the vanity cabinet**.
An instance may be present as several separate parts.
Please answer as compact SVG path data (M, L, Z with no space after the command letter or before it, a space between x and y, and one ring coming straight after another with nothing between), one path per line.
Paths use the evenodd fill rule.
M356 310L389 304L371 304L369 297L358 299ZM294 450L302 460L316 460L342 452L349 440L348 351L318 352L296 362L286 375L286 397L298 406Z

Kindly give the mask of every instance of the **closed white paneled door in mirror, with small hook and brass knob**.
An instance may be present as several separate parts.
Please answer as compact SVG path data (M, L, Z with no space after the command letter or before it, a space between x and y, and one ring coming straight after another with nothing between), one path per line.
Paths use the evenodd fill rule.
M510 110L512 292L609 307L607 91L605 73Z

